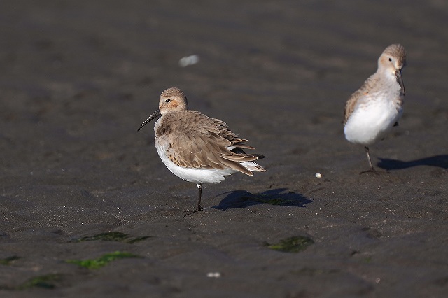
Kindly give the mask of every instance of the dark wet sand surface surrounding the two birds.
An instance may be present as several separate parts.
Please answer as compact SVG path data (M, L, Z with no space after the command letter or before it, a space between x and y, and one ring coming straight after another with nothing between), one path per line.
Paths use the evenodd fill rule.
M448 292L446 1L1 6L1 297ZM391 43L405 112L370 148L381 174L359 175L344 104ZM266 173L205 185L186 218L196 186L162 164L153 125L137 132L172 86L266 156ZM82 241L107 232L143 238ZM314 243L267 246L293 236ZM116 251L139 257L66 262Z

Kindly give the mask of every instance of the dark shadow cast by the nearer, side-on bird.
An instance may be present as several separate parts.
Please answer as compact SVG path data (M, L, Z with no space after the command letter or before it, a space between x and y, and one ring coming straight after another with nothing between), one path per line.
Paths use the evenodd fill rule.
M305 204L309 204L313 201L304 197L302 194L296 194L295 192L282 193L286 190L287 188L277 188L275 190L267 190L260 194L252 194L245 190L224 192L223 194L227 194L225 198L221 200L218 206L213 206L212 208L224 211L227 209L245 208L259 204L306 207ZM216 197L222 196L223 194L218 194Z

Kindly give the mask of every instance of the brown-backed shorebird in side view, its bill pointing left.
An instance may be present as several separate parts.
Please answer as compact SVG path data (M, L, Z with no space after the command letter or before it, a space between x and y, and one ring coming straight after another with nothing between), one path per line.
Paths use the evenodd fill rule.
M246 154L243 149L255 148L225 122L188 110L187 97L179 88L162 92L159 109L138 130L159 116L154 143L160 159L174 175L196 183L199 190L197 209L186 215L201 210L202 183L220 183L236 172L252 176L252 172L266 171L254 162L263 156Z

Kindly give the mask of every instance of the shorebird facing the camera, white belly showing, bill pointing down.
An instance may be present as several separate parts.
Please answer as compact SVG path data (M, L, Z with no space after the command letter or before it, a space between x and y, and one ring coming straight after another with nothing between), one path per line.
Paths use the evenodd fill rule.
M405 48L389 45L378 59L377 72L347 101L344 113L344 134L351 142L363 145L370 169L376 173L370 159L369 146L384 139L398 125L403 113L405 85L401 71L406 65Z

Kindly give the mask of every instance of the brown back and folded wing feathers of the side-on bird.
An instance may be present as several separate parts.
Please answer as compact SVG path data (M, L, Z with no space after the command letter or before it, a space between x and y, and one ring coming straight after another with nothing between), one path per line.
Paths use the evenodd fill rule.
M240 162L251 162L258 156L237 149L255 148L246 145L247 140L232 132L225 122L199 111L172 111L163 117L156 131L156 142L170 144L167 156L175 164L192 169L228 167L253 175ZM235 149L229 150L229 146Z

